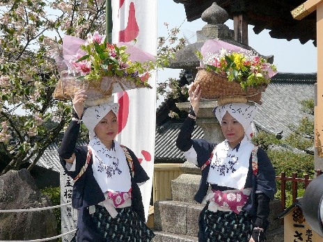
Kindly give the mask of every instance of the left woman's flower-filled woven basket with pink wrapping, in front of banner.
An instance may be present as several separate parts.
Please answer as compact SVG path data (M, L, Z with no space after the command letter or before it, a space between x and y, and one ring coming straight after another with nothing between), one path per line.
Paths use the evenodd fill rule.
M84 106L113 102L116 92L152 88L148 79L158 65L152 54L124 42L111 44L97 31L87 40L65 35L62 53L54 58L60 72L54 98L68 100L85 89Z

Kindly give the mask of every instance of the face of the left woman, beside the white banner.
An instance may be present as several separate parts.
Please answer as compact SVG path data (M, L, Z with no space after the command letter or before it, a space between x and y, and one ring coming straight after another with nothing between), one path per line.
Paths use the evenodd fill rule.
M113 111L109 111L109 113L95 126L94 131L97 138L110 149L112 140L116 138L116 135L118 134L118 120L116 114L114 114Z

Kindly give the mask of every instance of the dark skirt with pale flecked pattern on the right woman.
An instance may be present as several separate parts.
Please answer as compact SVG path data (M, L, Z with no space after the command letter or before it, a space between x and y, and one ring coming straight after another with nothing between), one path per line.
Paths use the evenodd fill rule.
M206 208L200 213L199 242L248 242L252 220L248 213L213 211Z

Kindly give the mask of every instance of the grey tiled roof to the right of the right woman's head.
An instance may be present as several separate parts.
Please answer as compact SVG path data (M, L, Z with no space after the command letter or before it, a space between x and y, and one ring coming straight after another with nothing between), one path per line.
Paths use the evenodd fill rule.
M291 133L288 125L297 125L306 114L301 111L300 102L314 99L314 74L278 73L262 93L262 105L255 115L255 125L265 131L278 133L283 137Z

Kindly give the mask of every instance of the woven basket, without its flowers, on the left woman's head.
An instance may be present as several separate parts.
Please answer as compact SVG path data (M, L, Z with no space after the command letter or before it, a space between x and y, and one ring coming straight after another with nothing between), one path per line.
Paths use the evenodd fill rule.
M109 102L115 92L122 92L132 88L142 88L143 85L130 82L125 77L102 76L100 80L77 79L76 76L68 74L68 71L61 72L54 91L54 98L68 100L74 97L74 93L82 88L86 89L86 101L84 106L95 106ZM148 86L148 88L151 88ZM110 101L111 102L111 101Z

